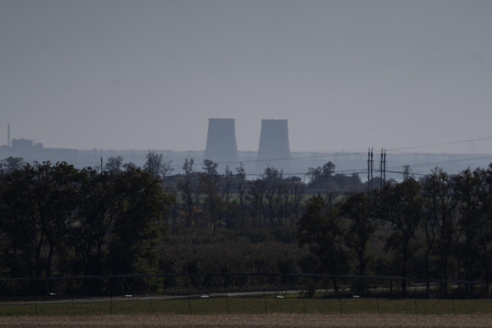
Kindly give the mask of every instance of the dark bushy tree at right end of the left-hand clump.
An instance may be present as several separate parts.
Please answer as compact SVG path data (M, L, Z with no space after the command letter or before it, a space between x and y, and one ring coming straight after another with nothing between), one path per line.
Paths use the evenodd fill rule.
M158 245L166 233L162 216L173 201L161 180L140 169L114 176L116 213L110 252L113 274L157 272Z

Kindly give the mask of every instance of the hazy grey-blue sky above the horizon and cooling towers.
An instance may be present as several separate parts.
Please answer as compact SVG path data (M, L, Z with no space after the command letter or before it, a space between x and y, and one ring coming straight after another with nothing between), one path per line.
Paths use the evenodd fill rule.
M292 151L492 137L492 1L0 0L0 144ZM412 149L492 152L492 139Z

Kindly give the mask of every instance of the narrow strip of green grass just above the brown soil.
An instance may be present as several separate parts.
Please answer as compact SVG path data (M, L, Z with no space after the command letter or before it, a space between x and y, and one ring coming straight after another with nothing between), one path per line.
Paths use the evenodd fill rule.
M211 297L159 300L65 300L0 303L0 316L107 314L477 314L492 313L490 299L257 298Z

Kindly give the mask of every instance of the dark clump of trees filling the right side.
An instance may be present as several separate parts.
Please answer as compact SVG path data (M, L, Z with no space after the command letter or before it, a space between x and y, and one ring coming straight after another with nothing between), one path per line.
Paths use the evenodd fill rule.
M457 175L436 168L419 181L408 177L335 203L313 196L298 241L325 273L490 282L492 165Z

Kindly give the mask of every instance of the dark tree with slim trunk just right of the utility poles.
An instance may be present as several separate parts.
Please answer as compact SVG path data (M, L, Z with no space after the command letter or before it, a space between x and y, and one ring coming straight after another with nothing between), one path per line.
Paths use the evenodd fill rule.
M423 218L423 206L420 185L413 178L396 186L387 184L381 191L379 215L392 224L393 230L386 240L385 250L399 253L401 277L406 277L408 262L415 251L412 241ZM402 280L401 289L406 294L406 280Z

